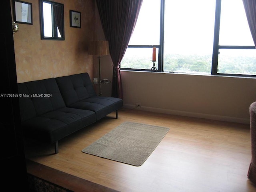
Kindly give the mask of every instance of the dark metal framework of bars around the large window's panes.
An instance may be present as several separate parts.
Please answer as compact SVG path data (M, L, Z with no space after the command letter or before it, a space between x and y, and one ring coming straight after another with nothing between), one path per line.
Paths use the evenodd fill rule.
M164 4L165 0L160 0L160 43L159 45L128 45L127 48L158 48L158 70L156 72L164 72ZM219 35L220 35L220 14L221 14L221 0L216 0L215 6L215 22L214 22L214 39L213 39L213 50L212 50L212 69L210 75L219 76L235 76L235 77L256 77L250 74L228 74L228 73L218 73L218 55L221 49L256 49L255 46L229 46L229 45L219 45ZM147 71L150 69L137 69L137 68L120 68L120 70L131 70L131 71ZM197 75L204 75L198 73Z

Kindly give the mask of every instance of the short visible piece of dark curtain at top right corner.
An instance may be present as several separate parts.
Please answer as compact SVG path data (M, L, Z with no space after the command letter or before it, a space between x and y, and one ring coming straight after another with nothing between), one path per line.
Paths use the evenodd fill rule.
M243 2L254 45L256 46L256 0L243 0Z

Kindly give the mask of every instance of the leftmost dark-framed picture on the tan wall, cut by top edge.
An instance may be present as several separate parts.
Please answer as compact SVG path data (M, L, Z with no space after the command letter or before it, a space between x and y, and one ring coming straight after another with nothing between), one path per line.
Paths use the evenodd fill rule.
M13 0L13 19L16 23L32 25L32 3Z

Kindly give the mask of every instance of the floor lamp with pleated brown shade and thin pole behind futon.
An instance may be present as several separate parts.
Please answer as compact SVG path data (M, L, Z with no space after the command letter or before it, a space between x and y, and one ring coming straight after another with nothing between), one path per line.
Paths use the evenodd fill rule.
M95 55L98 57L99 64L99 85L100 85L100 96L101 96L101 76L100 76L100 58L109 54L108 41L91 41L88 48L89 55Z

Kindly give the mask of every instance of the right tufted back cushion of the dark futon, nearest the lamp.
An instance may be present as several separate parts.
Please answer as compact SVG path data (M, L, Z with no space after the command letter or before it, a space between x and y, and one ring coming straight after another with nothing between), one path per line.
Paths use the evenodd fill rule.
M66 106L96 96L88 73L57 77L56 82Z

